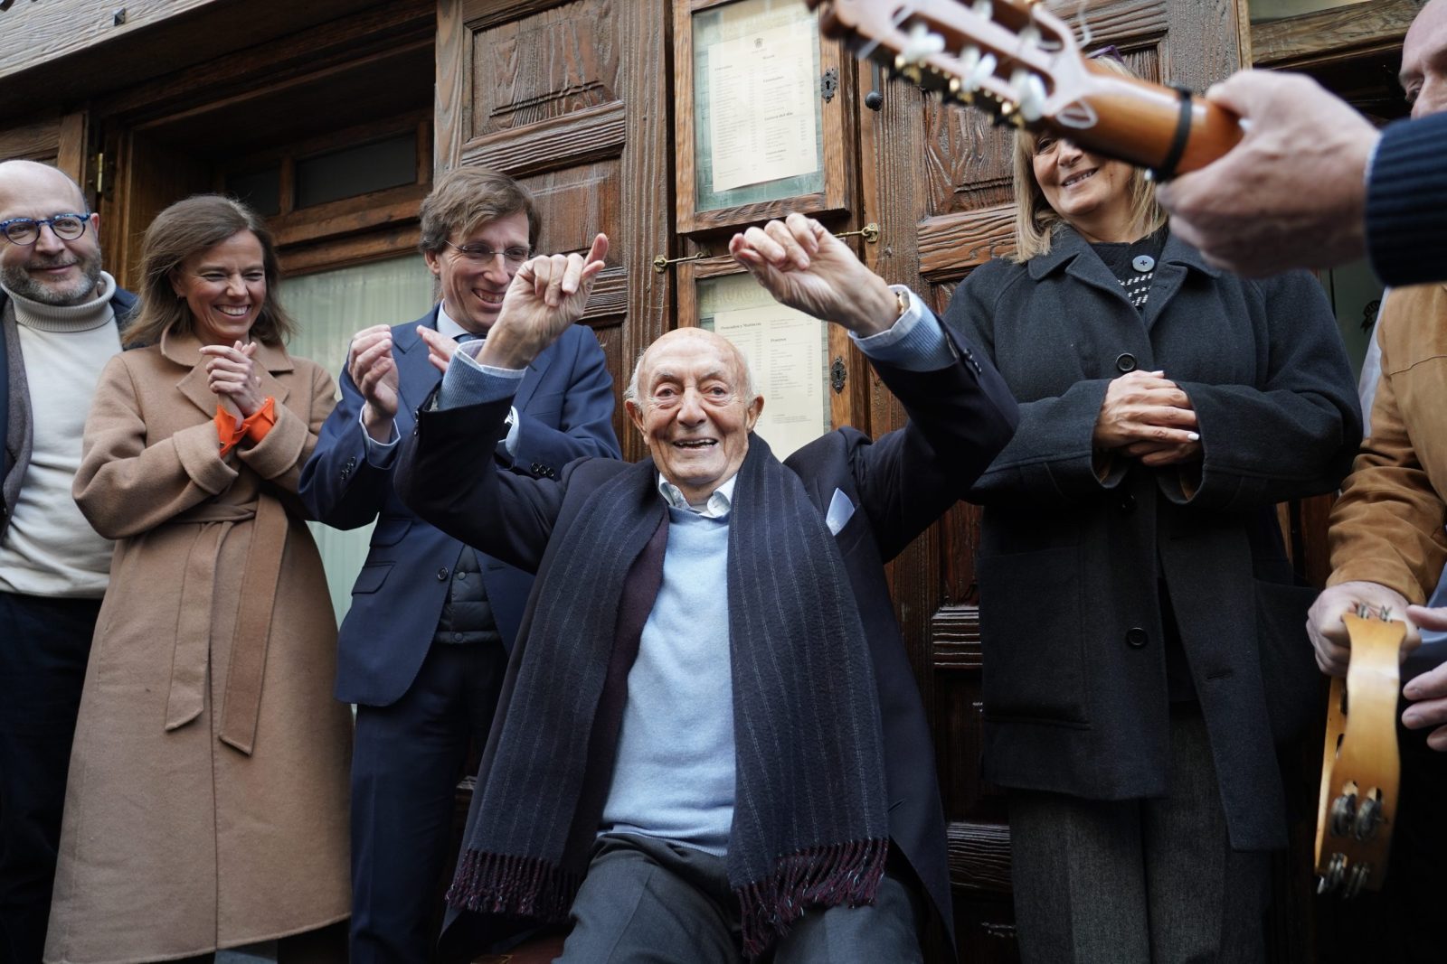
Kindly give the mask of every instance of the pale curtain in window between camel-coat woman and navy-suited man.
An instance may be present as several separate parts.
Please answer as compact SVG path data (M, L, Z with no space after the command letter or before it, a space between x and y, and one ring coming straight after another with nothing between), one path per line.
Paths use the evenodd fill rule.
M287 350L311 358L341 377L347 345L369 325L398 325L433 305L433 276L418 256L356 264L282 283L282 304L297 319L298 334ZM311 533L327 568L327 587L337 623L352 606L352 584L366 559L372 525L343 532L311 523Z

